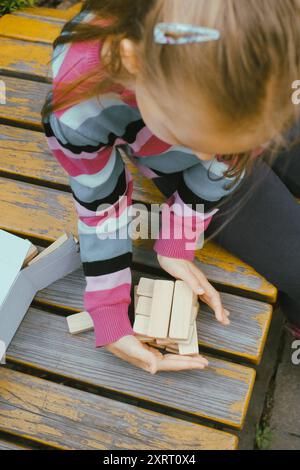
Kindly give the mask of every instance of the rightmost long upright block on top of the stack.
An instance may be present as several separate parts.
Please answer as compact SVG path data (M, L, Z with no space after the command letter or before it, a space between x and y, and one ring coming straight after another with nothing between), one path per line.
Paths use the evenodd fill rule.
M188 339L196 304L195 297L197 295L185 282L176 281L169 330L171 339Z

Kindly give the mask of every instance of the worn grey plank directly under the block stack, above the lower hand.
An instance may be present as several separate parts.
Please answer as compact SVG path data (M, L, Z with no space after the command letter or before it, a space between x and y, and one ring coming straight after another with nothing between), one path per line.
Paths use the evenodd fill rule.
M133 285L140 277L153 277L133 271ZM154 278L154 277L153 277ZM74 313L84 310L85 279L78 269L64 279L37 293L35 300L43 305L63 308ZM133 295L132 295L133 298ZM247 359L255 364L261 361L272 319L272 307L256 300L221 293L222 303L231 313L231 324L222 326L211 309L200 302L197 317L199 345Z

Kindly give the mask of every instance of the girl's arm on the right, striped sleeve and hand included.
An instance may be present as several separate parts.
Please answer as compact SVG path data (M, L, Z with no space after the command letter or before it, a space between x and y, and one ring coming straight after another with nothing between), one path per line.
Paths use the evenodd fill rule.
M163 208L160 236L154 245L158 262L170 275L184 280L214 310L218 321L228 325L230 313L224 309L220 294L192 261L195 250L202 248L204 243L204 239L197 243L200 235L204 236L218 211L217 202L235 190L237 185L231 190L224 187L232 180L221 177L226 165L216 163L216 160L212 165L212 162L199 161L195 156L191 158L190 153L174 152L174 148L161 157L150 157L147 161L148 168L159 172L157 185L163 188L167 184L167 187L173 188L167 190L168 194L172 191L173 194ZM212 166L210 177L209 166ZM175 173L171 173L171 168Z

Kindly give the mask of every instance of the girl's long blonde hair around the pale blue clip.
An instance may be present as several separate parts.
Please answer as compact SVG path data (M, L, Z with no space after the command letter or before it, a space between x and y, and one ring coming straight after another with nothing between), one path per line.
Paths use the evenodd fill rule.
M87 0L88 11L105 26L72 24L54 46L110 38L110 61L93 77L59 87L59 99L47 102L43 116L67 104L99 96L118 87L127 76L122 67L120 41L140 44L141 78L153 95L164 85L182 92L197 90L224 120L224 126L243 127L261 117L274 128L274 140L264 158L275 158L287 146L285 133L297 118L292 83L300 78L300 0ZM155 43L153 30L158 22L181 22L218 29L219 41L169 46ZM103 21L102 21L103 23ZM91 80L89 92L81 94L80 84ZM70 90L79 90L72 94ZM167 89L167 88L166 88ZM57 90L56 90L57 92ZM175 95L176 96L176 95ZM176 99L176 98L175 98ZM160 99L161 106L163 100ZM235 178L253 168L251 153L227 155L231 163L224 177ZM222 204L221 204L222 205ZM220 207L221 207L220 205Z

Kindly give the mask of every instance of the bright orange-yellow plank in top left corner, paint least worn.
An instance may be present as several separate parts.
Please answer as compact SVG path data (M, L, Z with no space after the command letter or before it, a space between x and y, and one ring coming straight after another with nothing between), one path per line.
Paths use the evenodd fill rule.
M62 26L51 21L41 21L25 16L4 15L0 18L0 36L52 44L59 36ZM27 44L27 47L30 45Z

